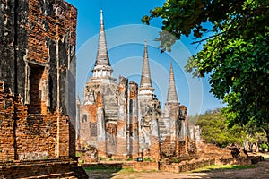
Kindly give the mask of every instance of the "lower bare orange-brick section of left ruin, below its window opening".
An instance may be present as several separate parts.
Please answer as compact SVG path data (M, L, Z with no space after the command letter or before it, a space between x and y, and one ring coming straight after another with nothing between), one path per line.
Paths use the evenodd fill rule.
M0 88L0 160L74 157L69 117L28 115L21 99Z

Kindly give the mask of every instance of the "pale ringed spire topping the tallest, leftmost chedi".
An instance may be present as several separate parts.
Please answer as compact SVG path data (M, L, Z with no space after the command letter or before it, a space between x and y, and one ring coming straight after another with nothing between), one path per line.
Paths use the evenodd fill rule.
M103 11L100 10L100 32L96 61L92 70L93 77L107 78L112 76L113 69L108 58L108 47L104 28Z

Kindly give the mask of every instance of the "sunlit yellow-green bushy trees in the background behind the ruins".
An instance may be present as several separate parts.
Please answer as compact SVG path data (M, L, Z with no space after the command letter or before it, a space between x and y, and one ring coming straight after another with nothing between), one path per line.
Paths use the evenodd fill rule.
M202 138L207 143L213 143L219 147L237 143L247 147L247 143L262 144L265 142L264 130L255 124L243 126L234 124L232 127L228 127L227 119L225 115L222 115L221 109L206 111L203 115L196 115L195 118L197 119L195 124L200 126Z

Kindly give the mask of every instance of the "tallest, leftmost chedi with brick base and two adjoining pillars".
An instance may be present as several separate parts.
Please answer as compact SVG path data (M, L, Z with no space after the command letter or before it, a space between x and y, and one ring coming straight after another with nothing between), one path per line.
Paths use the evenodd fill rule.
M77 100L79 148L83 141L98 149L100 157L126 158L138 154L137 85L112 76L100 13L100 36L93 75L86 83L82 101ZM130 145L131 144L131 145Z

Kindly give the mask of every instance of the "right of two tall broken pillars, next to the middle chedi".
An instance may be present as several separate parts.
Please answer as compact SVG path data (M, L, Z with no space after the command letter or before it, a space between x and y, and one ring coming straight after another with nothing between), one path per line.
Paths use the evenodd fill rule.
M129 83L129 154L137 158L139 154L139 126L138 126L138 85L134 81Z

